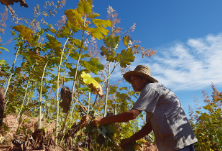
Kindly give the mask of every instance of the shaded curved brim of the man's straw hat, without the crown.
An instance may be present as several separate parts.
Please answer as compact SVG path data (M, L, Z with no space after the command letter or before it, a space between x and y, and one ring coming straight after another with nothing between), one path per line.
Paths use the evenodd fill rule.
M147 75L147 74L144 74L142 72L138 72L138 71L129 71L129 72L126 72L124 75L123 75L123 78L128 81L129 83L131 83L131 76L132 75L138 75L138 76L142 76L142 77L145 77L147 79L149 79L152 83L154 82L158 82L155 78Z

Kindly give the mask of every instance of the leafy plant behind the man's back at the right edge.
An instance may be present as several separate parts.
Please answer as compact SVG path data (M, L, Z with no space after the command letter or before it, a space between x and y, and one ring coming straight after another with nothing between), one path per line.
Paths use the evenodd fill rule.
M190 109L190 122L198 139L195 143L196 150L221 150L222 149L222 92L219 93L212 84L212 99L203 91L205 112L198 108L196 114Z

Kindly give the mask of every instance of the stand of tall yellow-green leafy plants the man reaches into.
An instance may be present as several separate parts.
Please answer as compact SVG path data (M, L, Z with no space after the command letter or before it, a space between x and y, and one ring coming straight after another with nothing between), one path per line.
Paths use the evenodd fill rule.
M34 28L37 17L45 13L38 6L29 24L12 27L16 43L14 62L9 67L7 61L0 61L7 75L3 75L4 83L1 84L5 87L7 101L5 113L17 114L20 121L17 133L25 132L21 121L22 115L26 114L39 117L39 129L43 118L55 120L56 144L65 146L71 138L71 146L86 140L90 146L84 147L95 149L98 148L97 141L102 140L104 150L120 149L121 139L138 130L142 115L128 124L100 128L88 124L89 119L106 116L109 112L118 114L133 106L137 94L129 87L118 88L120 82L113 84L109 79L117 68L122 73L128 70L135 54L141 51L142 57L151 57L155 51L145 50L132 40L130 32L135 25L132 30L122 32L117 27L117 14L111 7L108 8L108 19L99 19L100 15L93 12L92 0L80 0L77 8L65 10L59 26L47 24ZM103 41L100 50L96 50L98 41ZM7 51L5 47L0 48ZM19 62L18 58L21 58ZM62 112L60 104L64 98L59 92L65 85L72 87L69 92L71 103L68 110Z

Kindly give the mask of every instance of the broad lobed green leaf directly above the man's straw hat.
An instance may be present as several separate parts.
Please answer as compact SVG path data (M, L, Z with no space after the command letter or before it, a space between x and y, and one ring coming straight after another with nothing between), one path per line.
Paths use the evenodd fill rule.
M130 65L135 59L134 53L131 48L122 50L121 54L117 54L116 60L120 63L120 66L125 68Z

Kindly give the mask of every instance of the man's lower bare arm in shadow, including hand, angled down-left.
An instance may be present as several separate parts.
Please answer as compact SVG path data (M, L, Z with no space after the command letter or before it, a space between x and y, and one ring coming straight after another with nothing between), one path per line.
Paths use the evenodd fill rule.
M152 131L152 126L150 124L150 122L146 123L143 128L135 133L133 136L131 136L130 138L128 139L125 139L121 144L120 146L122 148L124 148L125 145L127 145L128 143L130 142L134 142L135 140L138 140L140 138L143 138L144 136L146 136L147 134L149 134L150 132Z

